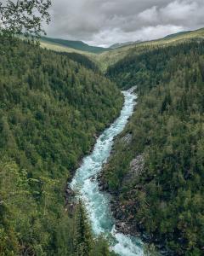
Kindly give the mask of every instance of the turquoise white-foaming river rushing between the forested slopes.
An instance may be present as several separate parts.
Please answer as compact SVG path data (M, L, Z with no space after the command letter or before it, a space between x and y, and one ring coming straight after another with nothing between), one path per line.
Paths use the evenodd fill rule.
M126 236L116 231L110 210L110 195L99 191L99 183L96 179L111 154L114 137L127 125L136 104L133 89L123 91L123 95L125 102L120 117L97 139L92 154L83 159L82 166L77 169L70 186L82 198L94 234L97 236L103 233L108 237L111 241L111 249L121 256L140 256L143 255L142 242L137 237Z

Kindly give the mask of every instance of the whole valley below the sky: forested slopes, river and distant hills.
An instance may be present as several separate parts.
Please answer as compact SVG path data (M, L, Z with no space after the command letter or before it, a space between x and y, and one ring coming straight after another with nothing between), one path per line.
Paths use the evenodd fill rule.
M1 36L1 255L203 255L203 38Z

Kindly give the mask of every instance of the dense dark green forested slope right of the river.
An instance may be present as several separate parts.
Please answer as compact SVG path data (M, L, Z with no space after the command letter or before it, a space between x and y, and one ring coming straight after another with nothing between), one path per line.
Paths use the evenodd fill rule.
M175 255L203 255L204 42L133 52L107 75L139 96L103 172L116 218Z

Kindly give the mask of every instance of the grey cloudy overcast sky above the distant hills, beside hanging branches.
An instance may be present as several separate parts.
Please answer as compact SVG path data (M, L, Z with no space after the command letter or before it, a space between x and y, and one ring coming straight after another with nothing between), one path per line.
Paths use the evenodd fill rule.
M204 27L204 0L53 0L48 36L109 46Z

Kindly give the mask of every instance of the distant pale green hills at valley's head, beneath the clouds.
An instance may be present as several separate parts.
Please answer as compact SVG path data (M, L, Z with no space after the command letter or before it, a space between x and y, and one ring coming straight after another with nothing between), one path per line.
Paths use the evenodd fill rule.
M102 50L99 48L98 54L95 54L93 51L88 51L87 49L81 50L76 49L77 47L65 47L65 44L54 44L53 40L49 40L47 38L46 41L41 40L41 44L43 48L53 49L56 51L65 51L65 52L77 52L83 55L88 55L90 59L95 61L97 65L100 67L102 72L106 72L108 67L114 65L117 61L122 60L127 55L139 54L142 51L146 51L149 49L155 49L157 47L165 47L168 44L180 44L189 40L194 39L203 39L204 38L204 29L198 29L196 31L190 32L181 32L173 35L169 35L165 38L146 41L146 42L136 42L135 44L125 44L122 47L118 47L116 49L107 48ZM51 38L52 39L52 38ZM68 41L69 42L69 41ZM73 41L70 41L73 44ZM95 50L96 51L96 50Z

